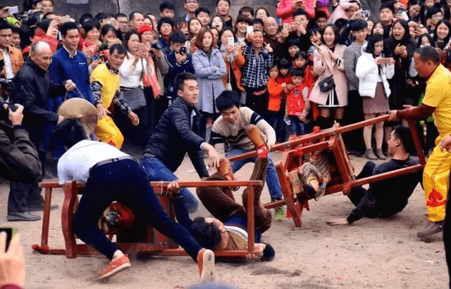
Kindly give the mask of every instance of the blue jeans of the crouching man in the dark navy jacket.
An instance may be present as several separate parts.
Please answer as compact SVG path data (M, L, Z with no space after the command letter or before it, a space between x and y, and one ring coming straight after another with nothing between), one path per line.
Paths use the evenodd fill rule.
M156 158L142 158L140 166L147 174L149 181L176 181L178 177L175 176L170 169L168 169L163 162ZM183 195L183 203L189 213L195 212L199 206L199 201L187 188L180 188L180 193Z

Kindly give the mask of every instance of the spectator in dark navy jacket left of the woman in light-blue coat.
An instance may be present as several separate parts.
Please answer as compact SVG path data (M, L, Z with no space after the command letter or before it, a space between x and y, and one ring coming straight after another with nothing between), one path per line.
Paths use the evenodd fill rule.
M175 87L175 77L183 72L194 73L194 67L191 62L191 54L187 53L185 47L185 35L179 30L173 31L169 36L171 46L167 48L164 57L168 63L168 73L164 77L164 87L167 89L166 97L168 105L177 98L178 89ZM183 52L182 47L185 47Z

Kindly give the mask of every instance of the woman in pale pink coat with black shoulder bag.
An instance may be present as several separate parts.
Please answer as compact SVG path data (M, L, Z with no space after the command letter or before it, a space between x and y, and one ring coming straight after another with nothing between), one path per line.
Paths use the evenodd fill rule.
M347 105L347 78L345 75L345 45L338 44L339 34L335 25L326 25L321 37L322 44L317 46L314 52L313 74L318 76L309 100L318 103L320 116L316 119L316 124L321 129L328 129L333 125L333 118L330 111L335 110L335 120L340 122L343 119L345 106ZM333 85L330 89L324 89L326 83Z

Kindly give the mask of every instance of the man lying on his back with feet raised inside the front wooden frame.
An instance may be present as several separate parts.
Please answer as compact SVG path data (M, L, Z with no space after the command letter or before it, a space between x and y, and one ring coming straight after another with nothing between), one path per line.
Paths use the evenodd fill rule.
M261 131L249 125L245 129L245 134L259 148L265 144ZM261 242L261 234L271 226L272 216L260 203L261 191L266 179L268 168L268 151L262 150L255 161L254 171L250 180L259 180L261 186L254 187L254 220L255 220L255 242ZM229 177L229 179L227 178ZM218 172L209 176L206 181L227 181L233 179L232 167L226 158L221 158L221 165ZM178 183L173 181L168 186L168 191L172 191L175 213L180 224L190 231L192 236L205 248L211 250L247 250L247 190L242 193L242 203L240 205L226 195L228 188L202 187L197 188L197 196L213 217L197 217L191 220L180 199L183 195ZM274 250L268 244L256 244L256 248L263 250L263 261L271 261L274 257Z

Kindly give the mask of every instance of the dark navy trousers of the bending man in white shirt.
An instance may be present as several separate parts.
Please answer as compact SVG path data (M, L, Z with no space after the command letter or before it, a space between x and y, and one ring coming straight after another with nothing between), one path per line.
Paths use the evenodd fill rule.
M130 207L137 219L152 224L173 239L194 259L202 247L180 224L169 219L147 181L147 175L135 160L120 160L91 169L85 192L73 220L74 233L111 259L118 246L111 243L97 227L101 214L113 202Z

